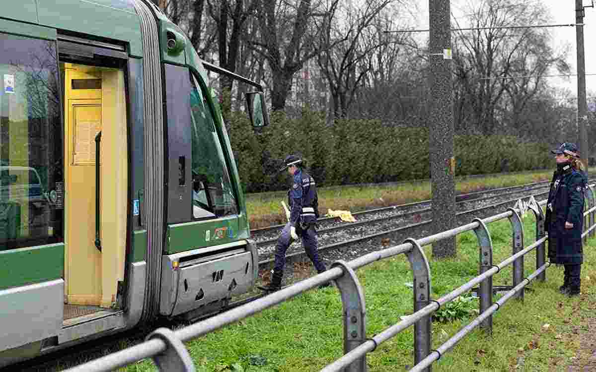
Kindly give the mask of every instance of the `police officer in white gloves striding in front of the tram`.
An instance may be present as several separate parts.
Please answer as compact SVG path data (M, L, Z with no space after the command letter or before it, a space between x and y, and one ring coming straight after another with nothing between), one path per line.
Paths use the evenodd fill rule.
M315 224L316 218L319 217L319 211L315 180L302 169L302 159L297 155L289 155L285 158L284 167L280 171L286 169L293 176L292 185L288 190L290 215L286 216L288 217L288 223L281 231L275 246L275 266L272 270L271 282L267 286L259 287L259 289L266 292L281 289L285 251L287 251L293 240L302 238L302 246L319 274L326 270L325 265L319 259L316 248ZM330 286L330 284L325 283L319 288L327 286Z

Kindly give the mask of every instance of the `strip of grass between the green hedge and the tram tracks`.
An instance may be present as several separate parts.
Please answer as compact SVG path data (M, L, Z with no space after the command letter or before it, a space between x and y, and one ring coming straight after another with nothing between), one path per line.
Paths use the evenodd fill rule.
M487 177L458 178L456 192L469 193L488 188L524 185L526 183L550 180L552 170L529 171L526 173L501 174ZM402 183L393 186L332 186L318 189L319 211L327 210L362 211L375 207L405 204L431 198L430 182ZM252 229L285 223L281 201L286 201L285 192L252 193L246 195L247 212Z

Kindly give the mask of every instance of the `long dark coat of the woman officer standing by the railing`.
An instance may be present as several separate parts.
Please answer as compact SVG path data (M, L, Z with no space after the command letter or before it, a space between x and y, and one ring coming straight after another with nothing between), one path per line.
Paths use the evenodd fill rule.
M567 165L552 175L548 193L545 230L548 232L548 258L551 264L583 262L583 193L586 177ZM565 222L573 224L565 229Z

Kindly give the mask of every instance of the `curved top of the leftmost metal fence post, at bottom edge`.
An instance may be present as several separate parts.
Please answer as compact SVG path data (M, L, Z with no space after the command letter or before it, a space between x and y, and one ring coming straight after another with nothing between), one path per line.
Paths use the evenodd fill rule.
M184 343L167 328L158 328L154 330L147 339L160 339L166 343L166 351L153 356L153 361L157 365L157 370L167 372L194 372L193 359L188 354Z

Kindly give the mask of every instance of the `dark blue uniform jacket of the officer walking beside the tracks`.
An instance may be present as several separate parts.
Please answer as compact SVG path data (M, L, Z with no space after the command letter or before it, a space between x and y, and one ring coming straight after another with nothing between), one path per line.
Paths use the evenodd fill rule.
M302 169L294 173L292 186L288 190L288 205L291 226L297 226L298 223L303 226L316 223L316 218L319 217L319 202L315 180Z

